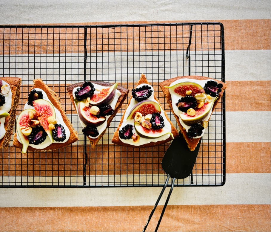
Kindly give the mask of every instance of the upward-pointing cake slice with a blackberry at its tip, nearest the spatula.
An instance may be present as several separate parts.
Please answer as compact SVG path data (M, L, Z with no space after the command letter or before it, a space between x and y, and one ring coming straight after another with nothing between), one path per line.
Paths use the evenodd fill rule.
M132 90L132 97L112 143L129 147L152 147L176 137L177 130L154 95L153 87L142 74L137 87Z

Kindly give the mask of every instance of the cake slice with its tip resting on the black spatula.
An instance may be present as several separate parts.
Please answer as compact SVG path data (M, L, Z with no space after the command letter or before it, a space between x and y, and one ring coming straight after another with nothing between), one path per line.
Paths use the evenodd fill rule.
M189 149L195 150L227 85L201 76L175 77L159 85Z

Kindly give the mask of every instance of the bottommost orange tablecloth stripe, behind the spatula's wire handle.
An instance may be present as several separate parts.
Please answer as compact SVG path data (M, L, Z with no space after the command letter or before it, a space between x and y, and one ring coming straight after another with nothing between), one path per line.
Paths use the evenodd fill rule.
M154 202L157 196L154 196ZM1 231L142 231L153 206L0 208ZM154 231L158 206L147 231ZM168 205L159 231L270 231L270 205Z

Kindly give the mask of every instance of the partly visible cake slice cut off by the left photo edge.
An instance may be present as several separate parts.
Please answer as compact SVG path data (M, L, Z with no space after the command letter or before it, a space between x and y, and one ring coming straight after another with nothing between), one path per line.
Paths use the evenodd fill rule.
M21 78L0 78L0 148L9 146L20 99Z

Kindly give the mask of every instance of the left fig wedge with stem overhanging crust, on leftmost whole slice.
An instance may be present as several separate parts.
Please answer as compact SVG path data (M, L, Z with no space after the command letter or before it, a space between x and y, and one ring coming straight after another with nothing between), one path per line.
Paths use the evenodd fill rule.
M29 120L29 112L32 112L34 115L34 118L37 119L36 111L33 109L26 109L22 111L17 119L16 127L17 127L17 135L21 139L21 143L23 145L22 153L26 153L27 147L29 146L28 136L25 136L21 132L21 127L28 127L28 120Z

